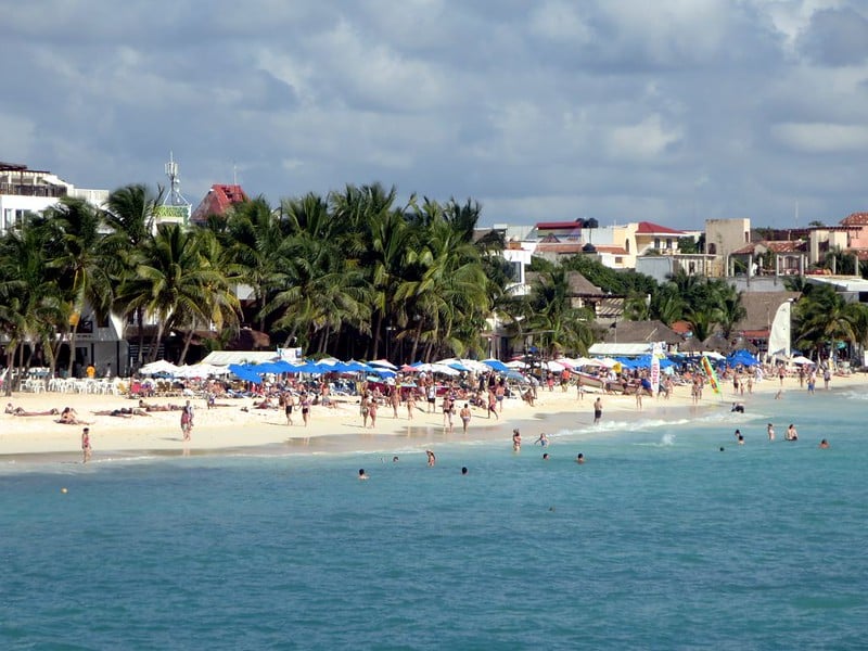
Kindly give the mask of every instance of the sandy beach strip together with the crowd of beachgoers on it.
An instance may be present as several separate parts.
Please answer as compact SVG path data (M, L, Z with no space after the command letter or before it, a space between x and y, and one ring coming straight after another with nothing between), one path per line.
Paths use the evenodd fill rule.
M633 368L630 368L630 366ZM15 393L8 400L0 454L78 450L80 427L100 450L218 450L289 444L295 451L387 446L372 436L496 437L516 424L574 414L577 425L599 421L598 407L626 418L663 416L703 406L744 410L754 393L814 393L861 382L830 366L719 362L716 378L699 358L667 365L656 386L651 369L629 360L538 370L366 374L271 374L259 383L205 380L112 379L115 392ZM523 378L519 380L518 378ZM716 387L716 391L715 391ZM668 410L668 411L667 411ZM69 425L77 425L71 434ZM506 433L506 434L505 434ZM337 437L333 436L337 435ZM355 435L355 436L353 436ZM339 438L340 437L340 438ZM335 446L334 441L341 445ZM98 455L99 457L99 455Z

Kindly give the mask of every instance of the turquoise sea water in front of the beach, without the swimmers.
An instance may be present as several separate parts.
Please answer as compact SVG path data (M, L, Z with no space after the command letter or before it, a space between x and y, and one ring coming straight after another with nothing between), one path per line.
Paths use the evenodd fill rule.
M8 464L0 647L868 648L866 406L788 394L560 433L548 462L506 441L439 446L433 469L421 450Z

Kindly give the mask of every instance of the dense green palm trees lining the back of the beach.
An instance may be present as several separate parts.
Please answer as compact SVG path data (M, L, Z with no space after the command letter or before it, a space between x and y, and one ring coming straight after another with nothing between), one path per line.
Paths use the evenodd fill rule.
M0 239L7 367L26 368L36 355L52 372L64 370L59 360L68 372L86 305L98 321L116 314L156 323L150 342L138 329L139 362L156 356L168 332L183 337L184 361L197 331L215 331L209 345L219 347L242 324L309 355L480 356L489 352L492 317L515 349L533 341L549 354L585 354L600 331L592 314L574 307L571 271L626 296L626 318L684 319L700 339L730 336L744 317L724 280L678 275L659 284L584 256L557 265L535 258L531 292L513 295L510 267L497 255L505 242L494 231L478 237L472 201L399 204L394 189L347 186L277 207L248 201L205 226L153 229L159 199L144 186L116 190L105 209L64 199ZM243 309L235 288L250 293ZM865 306L805 288L795 311L800 346L819 354L834 340L864 344L866 332Z

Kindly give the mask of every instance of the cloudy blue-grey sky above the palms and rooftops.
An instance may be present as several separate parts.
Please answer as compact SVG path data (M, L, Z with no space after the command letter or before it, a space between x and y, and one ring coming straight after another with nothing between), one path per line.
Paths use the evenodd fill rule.
M0 161L473 199L481 224L868 210L865 0L0 0Z

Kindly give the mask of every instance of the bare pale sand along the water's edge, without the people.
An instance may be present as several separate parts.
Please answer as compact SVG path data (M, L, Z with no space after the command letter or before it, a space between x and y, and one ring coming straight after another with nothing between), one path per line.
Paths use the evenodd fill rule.
M846 388L868 384L863 375L834 376L830 388L838 393ZM380 409L375 430L362 430L358 414L358 398L340 401L335 409L315 407L310 424L301 424L301 414L295 413L295 424L288 425L282 411L251 408L251 398L237 399L229 407L207 410L204 400L193 399L196 408L192 441L182 441L179 411L152 412L150 417L133 416L117 418L95 416L92 411L112 410L135 406L124 396L90 394L14 394L7 401L28 411L62 409L71 406L81 420L88 421L93 446L92 463L122 461L137 457L175 458L204 456L293 456L371 454L392 455L410 449L423 450L444 444L478 444L510 441L514 427L522 431L526 446L546 432L556 439L564 432L572 437L591 438L605 436L623 427L648 420L654 423L700 418L732 401L744 403L751 412L754 397L766 398L780 388L777 379L754 384L753 394L736 396L722 382L723 393L710 390L703 399L693 405L688 386L679 386L669 399L663 397L643 399L642 409L636 406L634 396L587 393L577 399L573 387L561 392L540 390L535 407L520 399L508 399L499 420L481 417L474 409L468 434L461 431L460 419L454 418L452 432L445 432L442 412L418 410L413 420L407 418L407 409L398 409L395 419L391 407ZM806 390L801 390L806 393ZM788 378L783 386L784 404L788 397L800 393L799 382ZM822 399L826 390L818 388L812 399ZM592 404L597 396L603 400L601 425L592 424ZM156 399L167 405L183 405L186 398ZM439 407L439 404L438 404ZM242 408L246 408L244 411ZM56 416L17 417L4 413L0 434L0 464L25 467L46 462L81 464L80 433L85 425L67 425L54 422ZM617 423L617 430L608 426Z

